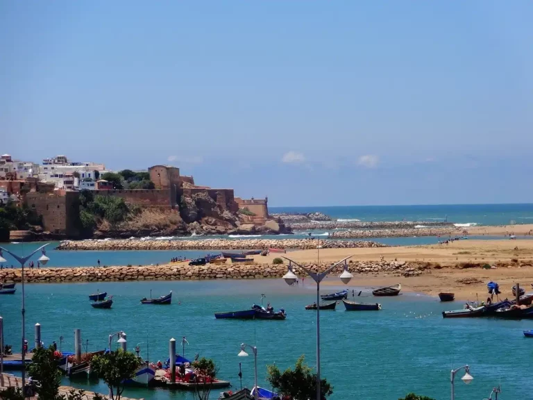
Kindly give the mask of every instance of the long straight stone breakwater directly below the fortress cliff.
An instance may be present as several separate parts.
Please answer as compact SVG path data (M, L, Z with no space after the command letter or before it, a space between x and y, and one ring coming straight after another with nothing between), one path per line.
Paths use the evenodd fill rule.
M58 250L240 250L316 249L312 239L214 239L214 240L65 240ZM388 247L386 244L352 240L321 240L321 249Z

